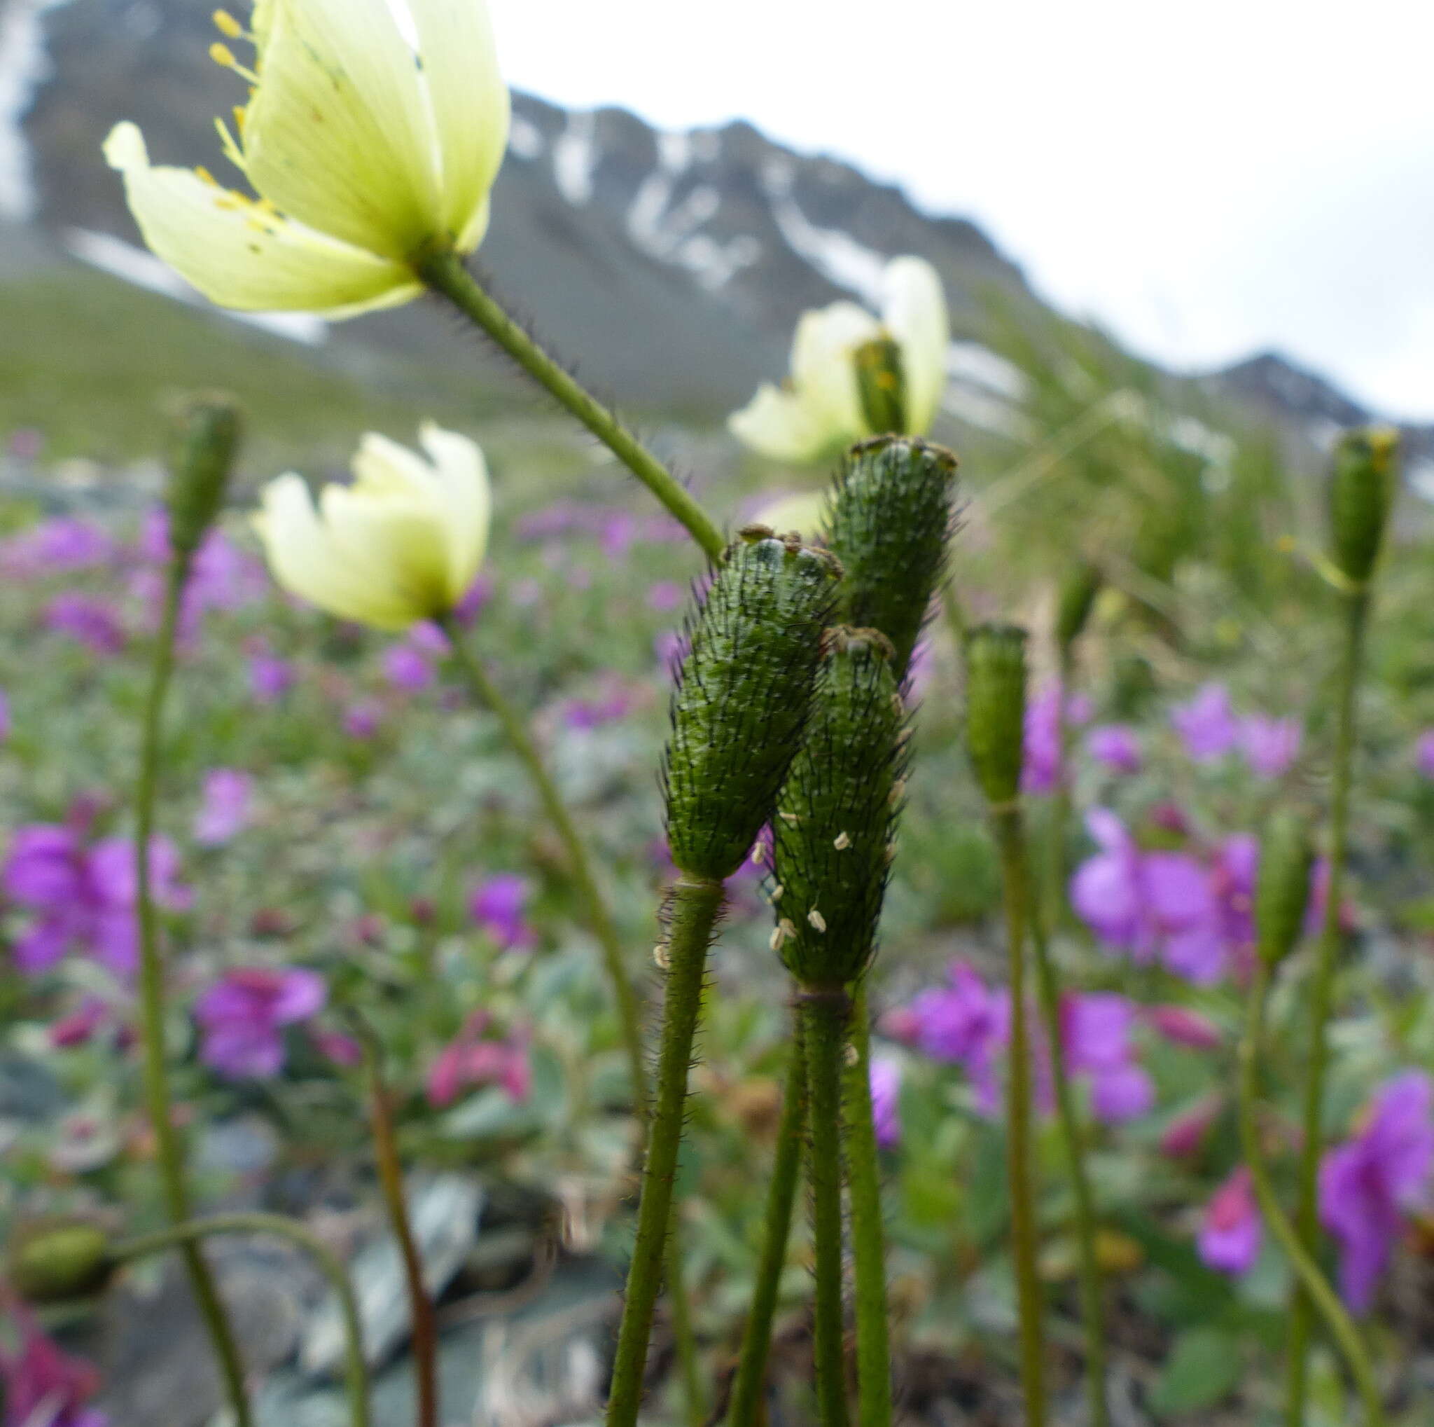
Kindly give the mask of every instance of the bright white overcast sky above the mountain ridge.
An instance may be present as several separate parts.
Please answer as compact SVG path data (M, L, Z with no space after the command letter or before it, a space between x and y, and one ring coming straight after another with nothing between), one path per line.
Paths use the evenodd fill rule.
M1428 0L490 0L503 69L751 119L979 222L1182 367L1278 347L1434 419Z

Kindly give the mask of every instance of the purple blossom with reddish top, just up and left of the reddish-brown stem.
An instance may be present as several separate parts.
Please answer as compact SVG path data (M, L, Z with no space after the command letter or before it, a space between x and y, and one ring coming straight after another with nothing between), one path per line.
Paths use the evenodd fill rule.
M282 1028L315 1015L327 1000L314 971L229 971L195 1004L199 1058L229 1080L272 1078L284 1068Z

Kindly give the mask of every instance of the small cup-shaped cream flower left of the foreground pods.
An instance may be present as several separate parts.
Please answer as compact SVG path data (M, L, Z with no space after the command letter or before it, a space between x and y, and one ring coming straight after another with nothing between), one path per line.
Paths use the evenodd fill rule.
M429 460L364 436L353 485L324 486L317 509L301 476L264 488L254 526L287 591L379 630L452 612L488 548L488 468L466 436L432 423L419 436Z

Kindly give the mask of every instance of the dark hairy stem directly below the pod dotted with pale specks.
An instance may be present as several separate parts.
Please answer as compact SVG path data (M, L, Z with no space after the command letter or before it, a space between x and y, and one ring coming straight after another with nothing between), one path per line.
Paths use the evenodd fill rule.
M807 1066L807 1183L812 1187L816 1258L816 1317L812 1335L817 1416L822 1427L846 1427L842 1070L852 1007L845 987L804 987L797 998Z

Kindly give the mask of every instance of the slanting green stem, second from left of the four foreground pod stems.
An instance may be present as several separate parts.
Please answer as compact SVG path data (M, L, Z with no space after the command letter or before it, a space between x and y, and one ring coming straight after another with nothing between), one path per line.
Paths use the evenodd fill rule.
M782 1272L787 1266L787 1239L792 1236L792 1210L797 1198L804 1124L806 1057L802 1054L799 1021L792 1035L782 1123L777 1126L777 1153L771 1165L771 1182L767 1186L761 1255L757 1259L757 1281L747 1311L747 1327L741 1335L741 1354L737 1360L737 1375L733 1378L731 1403L727 1407L727 1427L759 1427L761 1421L761 1390L766 1384L767 1355L771 1351L771 1322L777 1311Z

